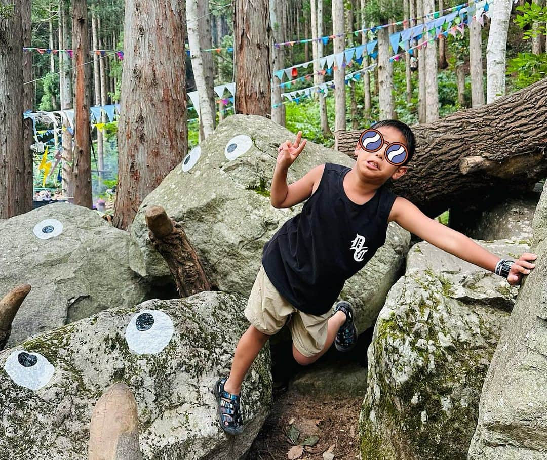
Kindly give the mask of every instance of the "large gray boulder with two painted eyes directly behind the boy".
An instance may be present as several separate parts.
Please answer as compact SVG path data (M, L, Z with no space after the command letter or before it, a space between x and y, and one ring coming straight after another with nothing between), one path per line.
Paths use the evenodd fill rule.
M144 199L130 228L131 267L154 281L170 274L150 244L144 221L148 205L161 205L181 222L213 286L247 297L264 244L302 208L299 204L275 209L269 198L277 146L294 137L260 116L234 115L220 123L200 144L201 153L190 152ZM287 181L294 182L325 162L354 164L347 155L308 142L289 168ZM393 223L386 244L346 283L342 297L356 300L359 329L373 324L399 275L409 241L410 234Z

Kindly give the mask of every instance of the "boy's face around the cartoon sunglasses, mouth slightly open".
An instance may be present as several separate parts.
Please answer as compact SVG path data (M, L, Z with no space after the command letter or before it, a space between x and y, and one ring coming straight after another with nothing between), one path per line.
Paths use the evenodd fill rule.
M401 144L406 145L406 139L403 133L401 133L399 129L394 126L381 126L375 129L382 133L385 141L389 143L400 142ZM380 150L374 153L368 152L363 150L359 143L357 143L355 147L355 155L357 156L356 166L359 174L363 175L364 178L377 179L382 184L389 178L397 180L400 176L405 174L408 169L406 166L393 166L393 164L386 160L386 149L387 144L384 143Z

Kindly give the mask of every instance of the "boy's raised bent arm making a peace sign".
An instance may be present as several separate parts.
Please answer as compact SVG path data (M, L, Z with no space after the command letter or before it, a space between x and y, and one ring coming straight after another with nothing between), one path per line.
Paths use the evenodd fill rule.
M324 164L320 164L309 170L302 178L287 186L287 170L306 145L305 139L300 141L301 137L302 132L299 131L296 134L294 143L287 140L277 149L279 154L277 155L270 190L270 203L274 208L290 208L309 198L316 190L317 184L319 184L323 175Z

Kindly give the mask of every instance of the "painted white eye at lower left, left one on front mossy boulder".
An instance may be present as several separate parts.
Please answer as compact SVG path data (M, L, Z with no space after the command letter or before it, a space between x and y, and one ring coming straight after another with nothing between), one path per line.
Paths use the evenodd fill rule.
M55 368L40 353L18 350L5 360L4 370L17 385L39 390L49 382Z

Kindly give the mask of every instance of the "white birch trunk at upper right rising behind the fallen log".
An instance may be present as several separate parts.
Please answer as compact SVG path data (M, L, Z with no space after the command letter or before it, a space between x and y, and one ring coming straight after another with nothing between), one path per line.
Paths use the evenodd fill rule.
M486 45L486 102L488 104L505 95L505 49L510 14L510 0L497 1L491 5L490 32ZM477 24L477 26L480 31L480 25Z

